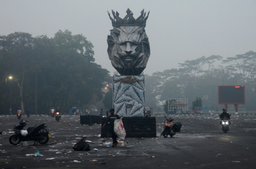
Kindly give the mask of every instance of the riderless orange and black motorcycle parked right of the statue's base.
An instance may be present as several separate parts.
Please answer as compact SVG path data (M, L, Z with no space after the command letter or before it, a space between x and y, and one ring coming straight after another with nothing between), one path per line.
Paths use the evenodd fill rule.
M165 116L166 118L166 116ZM173 137L176 132L181 132L182 124L174 119L168 119L166 118L164 128L162 131L163 137Z

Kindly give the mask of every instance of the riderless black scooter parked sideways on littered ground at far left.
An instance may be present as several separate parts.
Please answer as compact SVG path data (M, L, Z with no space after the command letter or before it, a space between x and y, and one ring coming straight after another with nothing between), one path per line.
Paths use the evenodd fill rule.
M35 141L40 144L46 144L49 140L49 131L47 130L45 123L37 124L34 127L24 129L26 122L21 120L19 124L14 126L15 133L10 136L9 142L12 145L17 145L21 141ZM35 145L34 142L34 145Z

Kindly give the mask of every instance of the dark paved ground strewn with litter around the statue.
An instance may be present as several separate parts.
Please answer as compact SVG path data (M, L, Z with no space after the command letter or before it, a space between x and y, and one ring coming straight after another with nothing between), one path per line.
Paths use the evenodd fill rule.
M173 138L160 136L164 115L157 119L156 138L126 138L128 144L111 147L111 138L100 137L101 126L81 125L79 116L62 116L57 122L47 115L32 115L26 127L46 123L52 135L49 145L9 143L16 116L0 116L0 169L4 168L255 168L256 115L232 115L231 129L221 130L217 114L175 115L183 124ZM25 128L26 128L25 127ZM91 149L73 151L83 136ZM54 143L56 144L50 144ZM39 152L43 156L26 156Z

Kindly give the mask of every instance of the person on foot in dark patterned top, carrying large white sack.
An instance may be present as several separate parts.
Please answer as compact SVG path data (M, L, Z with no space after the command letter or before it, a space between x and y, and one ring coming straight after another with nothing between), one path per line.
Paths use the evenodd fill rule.
M107 118L106 122L103 124L102 127L105 127L107 123L109 123L110 126L110 133L111 137L113 139L112 147L117 146L117 135L114 132L114 121L115 119L120 119L119 115L115 114L114 108L111 108L110 110L111 115Z

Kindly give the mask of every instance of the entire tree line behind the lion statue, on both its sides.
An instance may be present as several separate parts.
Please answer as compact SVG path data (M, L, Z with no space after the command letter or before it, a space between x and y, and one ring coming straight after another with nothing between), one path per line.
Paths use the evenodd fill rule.
M153 56L152 56L153 57ZM15 32L0 36L0 114L13 114L21 107L34 114L47 114L50 107L67 111L73 106L112 107L109 71L95 63L93 44L82 34L59 30L53 38ZM13 79L8 79L9 76ZM256 53L223 58L212 55L179 63L178 69L145 75L145 106L157 111L168 98L196 98L202 106L218 105L219 85L245 85L245 105L256 103Z

